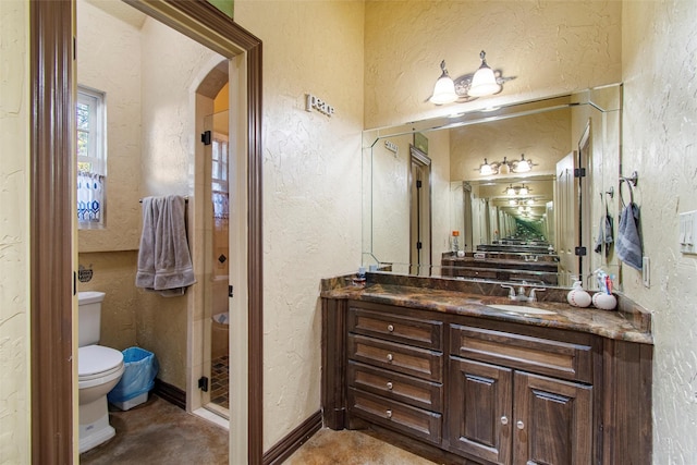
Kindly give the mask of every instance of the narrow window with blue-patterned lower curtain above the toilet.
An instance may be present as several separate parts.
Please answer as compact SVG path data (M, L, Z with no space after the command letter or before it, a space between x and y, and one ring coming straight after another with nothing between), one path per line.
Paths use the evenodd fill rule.
M107 181L105 94L77 88L77 223L80 229L103 228Z

